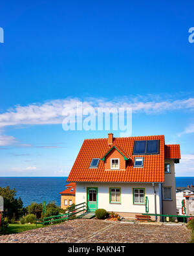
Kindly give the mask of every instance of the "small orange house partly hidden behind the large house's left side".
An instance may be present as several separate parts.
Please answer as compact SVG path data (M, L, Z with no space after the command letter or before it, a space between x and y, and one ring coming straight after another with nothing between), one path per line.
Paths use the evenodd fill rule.
M76 196L76 183L69 183L65 185L67 189L62 192L61 194L61 208L66 209L72 204L75 204L75 196Z

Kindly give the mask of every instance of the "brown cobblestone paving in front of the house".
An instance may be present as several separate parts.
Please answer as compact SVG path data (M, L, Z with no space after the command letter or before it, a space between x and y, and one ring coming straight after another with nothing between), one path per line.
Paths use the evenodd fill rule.
M188 242L185 226L130 224L76 219L22 233L0 236L0 242Z

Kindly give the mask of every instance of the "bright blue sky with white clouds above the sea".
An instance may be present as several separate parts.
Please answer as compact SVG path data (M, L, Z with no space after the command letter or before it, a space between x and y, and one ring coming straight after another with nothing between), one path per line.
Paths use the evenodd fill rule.
M132 135L180 144L194 176L193 1L1 1L0 176L67 176L83 139L61 106L133 108ZM114 132L115 137L120 131Z

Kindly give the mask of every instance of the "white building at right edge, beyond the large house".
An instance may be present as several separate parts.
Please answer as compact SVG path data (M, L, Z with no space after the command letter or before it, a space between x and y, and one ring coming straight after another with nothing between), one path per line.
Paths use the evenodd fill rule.
M182 215L182 200L186 200L189 199L189 197L186 196L190 196L190 195L194 195L194 186L191 185L189 187L176 187L176 199L177 199L177 215ZM191 201L192 198L190 198L189 200ZM189 212L189 207L190 204L186 204L186 212ZM190 210L191 211L191 210Z

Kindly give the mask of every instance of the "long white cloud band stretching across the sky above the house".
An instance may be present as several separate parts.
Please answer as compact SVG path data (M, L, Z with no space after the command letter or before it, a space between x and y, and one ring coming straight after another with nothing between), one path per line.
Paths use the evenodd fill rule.
M147 98L146 98L147 99ZM50 100L43 104L29 104L28 106L16 106L5 113L0 114L0 127L16 126L23 124L61 124L63 121L64 108L76 109L79 99L58 99ZM153 99L145 101L142 97L131 99L114 99L107 101L106 99L88 99L82 102L84 108L132 108L133 113L159 113L171 110L193 110L194 99L186 100L160 100Z

